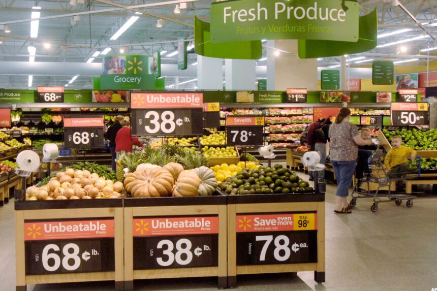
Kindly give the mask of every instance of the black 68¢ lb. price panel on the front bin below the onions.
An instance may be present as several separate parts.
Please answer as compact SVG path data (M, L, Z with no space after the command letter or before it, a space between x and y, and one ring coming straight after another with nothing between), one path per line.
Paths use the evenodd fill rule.
M25 242L26 275L114 271L114 239Z

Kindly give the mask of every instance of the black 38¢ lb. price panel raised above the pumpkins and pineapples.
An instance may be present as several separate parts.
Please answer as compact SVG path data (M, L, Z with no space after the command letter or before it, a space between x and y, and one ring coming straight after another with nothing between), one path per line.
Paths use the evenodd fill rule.
M192 136L203 134L202 109L134 109L134 136ZM200 126L199 126L200 125Z

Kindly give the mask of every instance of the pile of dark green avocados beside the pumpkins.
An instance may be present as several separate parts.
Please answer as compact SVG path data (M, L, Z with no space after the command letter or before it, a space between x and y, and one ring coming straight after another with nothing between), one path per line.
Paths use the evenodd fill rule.
M228 177L219 186L228 195L314 192L314 188L310 187L307 181L303 181L280 164L274 165L273 168L244 168L237 175Z

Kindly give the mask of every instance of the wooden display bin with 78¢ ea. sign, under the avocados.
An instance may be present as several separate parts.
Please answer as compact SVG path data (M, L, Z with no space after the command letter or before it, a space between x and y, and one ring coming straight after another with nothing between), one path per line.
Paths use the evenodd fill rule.
M315 271L325 281L325 195L228 196L228 287L237 275Z

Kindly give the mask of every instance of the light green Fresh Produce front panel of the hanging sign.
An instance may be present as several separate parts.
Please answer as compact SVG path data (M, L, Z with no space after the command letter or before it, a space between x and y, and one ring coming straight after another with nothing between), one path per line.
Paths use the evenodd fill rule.
M237 0L211 5L211 42L358 41L359 4L340 0ZM345 11L345 9L347 11Z

